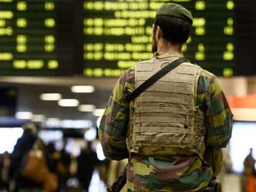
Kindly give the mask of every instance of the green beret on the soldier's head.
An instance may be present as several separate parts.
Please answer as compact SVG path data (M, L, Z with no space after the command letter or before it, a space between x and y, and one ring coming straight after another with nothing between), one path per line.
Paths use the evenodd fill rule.
M185 9L179 4L170 3L170 2L164 4L158 9L158 12L156 13L156 17L160 15L177 17L179 19L186 20L187 22L190 23L190 25L193 24L192 14L189 12L189 10Z

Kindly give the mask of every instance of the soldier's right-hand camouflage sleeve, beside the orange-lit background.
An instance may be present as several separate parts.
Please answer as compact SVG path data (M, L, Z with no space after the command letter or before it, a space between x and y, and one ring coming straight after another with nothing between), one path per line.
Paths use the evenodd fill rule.
M197 102L207 114L207 148L204 159L211 165L213 175L217 176L223 158L220 148L226 147L231 137L233 114L218 79L206 70L203 70L198 80Z

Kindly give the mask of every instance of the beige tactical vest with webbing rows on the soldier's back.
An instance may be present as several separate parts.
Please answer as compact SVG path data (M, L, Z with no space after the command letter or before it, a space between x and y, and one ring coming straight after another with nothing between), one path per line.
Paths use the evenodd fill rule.
M135 88L177 57L139 62ZM197 153L203 157L205 117L198 109L197 81L202 68L183 63L130 103L129 152L145 156Z

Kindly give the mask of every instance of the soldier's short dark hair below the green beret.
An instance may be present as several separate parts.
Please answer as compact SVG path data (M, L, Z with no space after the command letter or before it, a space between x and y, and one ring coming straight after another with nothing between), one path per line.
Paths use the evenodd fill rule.
M163 39L172 44L184 44L189 39L191 25L177 17L160 15L154 21L154 34L159 26L163 32Z

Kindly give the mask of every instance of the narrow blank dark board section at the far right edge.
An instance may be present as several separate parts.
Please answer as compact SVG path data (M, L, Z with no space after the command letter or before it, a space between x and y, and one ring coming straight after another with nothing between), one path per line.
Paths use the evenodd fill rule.
M235 9L235 75L256 75L256 1L237 0Z

